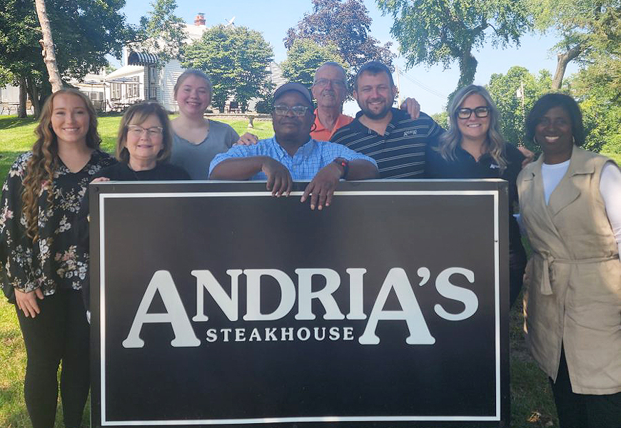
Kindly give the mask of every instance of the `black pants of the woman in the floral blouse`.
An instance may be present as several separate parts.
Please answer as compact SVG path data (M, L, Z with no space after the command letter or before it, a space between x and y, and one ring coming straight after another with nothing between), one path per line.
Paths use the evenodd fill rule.
M26 343L24 397L33 428L52 428L58 402L58 370L62 360L61 399L66 427L79 427L89 395L89 323L81 292L57 290L38 300L41 313L25 317L17 310Z

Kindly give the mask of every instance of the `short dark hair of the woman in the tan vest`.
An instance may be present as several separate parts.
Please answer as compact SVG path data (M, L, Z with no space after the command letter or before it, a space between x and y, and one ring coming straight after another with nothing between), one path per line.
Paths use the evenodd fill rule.
M532 106L528 116L526 117L526 138L535 141L535 127L541 120L542 116L550 110L550 108L560 107L567 111L572 121L572 136L576 146L582 146L585 143L585 126L582 124L582 112L580 106L574 98L564 93L546 93L539 98L535 105ZM535 141L535 143L537 143Z

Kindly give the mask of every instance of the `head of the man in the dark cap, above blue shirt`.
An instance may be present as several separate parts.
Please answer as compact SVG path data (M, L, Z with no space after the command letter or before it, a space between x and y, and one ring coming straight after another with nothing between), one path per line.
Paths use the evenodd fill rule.
M313 107L308 105L308 100L298 91L287 91L274 100L274 106L308 107L304 116L295 116L289 110L285 115L272 113L272 124L277 141L296 141L306 143L310 135L310 126L315 121Z

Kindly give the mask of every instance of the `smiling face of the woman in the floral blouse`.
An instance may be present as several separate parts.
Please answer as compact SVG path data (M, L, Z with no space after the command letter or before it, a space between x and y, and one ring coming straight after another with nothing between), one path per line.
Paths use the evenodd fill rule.
M84 144L89 132L89 111L84 100L71 93L59 93L52 100L51 127L59 146Z

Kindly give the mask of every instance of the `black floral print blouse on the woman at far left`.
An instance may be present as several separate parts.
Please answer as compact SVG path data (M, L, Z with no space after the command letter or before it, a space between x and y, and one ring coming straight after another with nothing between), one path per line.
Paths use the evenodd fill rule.
M86 279L89 255L78 254L72 225L81 200L93 176L116 163L107 153L94 151L88 163L72 173L62 162L54 180L44 183L39 193L39 240L26 236L26 219L21 213L22 184L32 153L19 156L9 170L0 200L0 270L9 284L31 292L41 288L52 295L57 288L80 290ZM50 205L48 193L54 194Z

